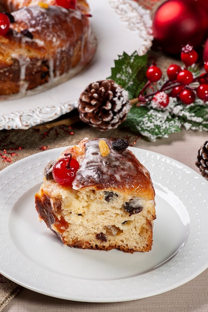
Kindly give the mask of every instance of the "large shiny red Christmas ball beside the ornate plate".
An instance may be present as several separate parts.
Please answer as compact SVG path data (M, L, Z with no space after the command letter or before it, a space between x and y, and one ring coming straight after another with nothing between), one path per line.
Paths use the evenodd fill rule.
M164 52L179 54L187 43L197 49L208 34L208 11L195 0L167 0L156 10L152 28Z

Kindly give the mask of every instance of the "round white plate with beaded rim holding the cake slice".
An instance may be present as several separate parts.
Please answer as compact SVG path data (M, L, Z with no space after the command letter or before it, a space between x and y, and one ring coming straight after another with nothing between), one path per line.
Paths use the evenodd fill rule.
M0 272L35 292L83 302L121 302L176 288L208 267L208 181L163 155L130 148L156 190L154 243L148 253L64 246L38 222L34 194L59 148L23 158L0 172Z

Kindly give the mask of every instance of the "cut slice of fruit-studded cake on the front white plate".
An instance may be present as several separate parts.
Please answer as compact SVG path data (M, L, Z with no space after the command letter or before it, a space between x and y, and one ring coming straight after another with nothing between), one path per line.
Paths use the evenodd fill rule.
M78 169L72 182L60 184L54 167L69 156ZM150 173L128 148L109 139L84 139L49 161L35 207L70 247L129 253L152 248L156 212Z

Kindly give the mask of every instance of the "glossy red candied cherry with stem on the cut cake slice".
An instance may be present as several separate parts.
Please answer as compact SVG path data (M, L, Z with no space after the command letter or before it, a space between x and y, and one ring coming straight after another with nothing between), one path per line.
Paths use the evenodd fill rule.
M79 163L72 158L71 154L59 159L53 166L52 175L54 180L65 186L70 186L79 169Z

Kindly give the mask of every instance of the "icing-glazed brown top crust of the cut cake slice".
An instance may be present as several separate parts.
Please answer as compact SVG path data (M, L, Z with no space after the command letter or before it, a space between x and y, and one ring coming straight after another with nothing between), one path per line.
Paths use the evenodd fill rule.
M102 156L99 140L104 140L110 153ZM75 190L96 186L98 189L144 187L149 172L128 149L116 151L108 139L85 140L85 156L72 183ZM143 182L142 182L143 181Z

